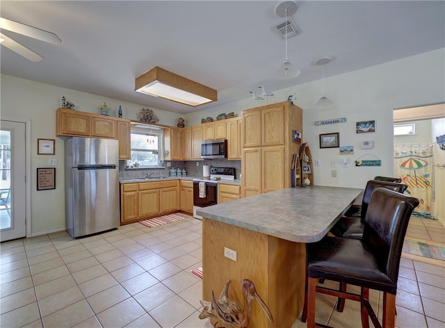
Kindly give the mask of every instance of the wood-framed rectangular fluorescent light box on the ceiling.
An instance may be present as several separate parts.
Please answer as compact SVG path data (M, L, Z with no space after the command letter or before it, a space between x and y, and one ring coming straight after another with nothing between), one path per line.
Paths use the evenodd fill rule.
M218 100L216 90L157 66L136 78L135 90L193 107Z

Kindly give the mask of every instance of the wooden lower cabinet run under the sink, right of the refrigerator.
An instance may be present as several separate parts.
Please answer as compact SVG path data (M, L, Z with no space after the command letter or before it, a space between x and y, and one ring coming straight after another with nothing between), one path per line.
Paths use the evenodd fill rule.
M121 224L175 213L178 209L178 180L120 185Z

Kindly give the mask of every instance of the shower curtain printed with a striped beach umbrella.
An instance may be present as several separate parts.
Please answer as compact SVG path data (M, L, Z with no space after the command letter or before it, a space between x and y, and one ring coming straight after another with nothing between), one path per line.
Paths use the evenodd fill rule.
M432 187L432 144L394 145L394 173L408 188L405 193L419 198L417 213L431 213Z

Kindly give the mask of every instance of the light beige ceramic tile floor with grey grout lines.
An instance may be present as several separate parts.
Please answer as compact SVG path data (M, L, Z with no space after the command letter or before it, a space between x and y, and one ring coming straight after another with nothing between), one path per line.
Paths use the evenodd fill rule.
M444 231L412 220L408 235L443 243ZM202 281L190 272L202 266L200 220L135 223L77 240L51 233L2 243L0 255L1 327L213 327L197 318ZM444 261L404 254L397 327L444 327L444 295ZM380 299L374 293L379 309ZM334 302L318 297L319 322L360 326L358 304L347 301L338 313Z

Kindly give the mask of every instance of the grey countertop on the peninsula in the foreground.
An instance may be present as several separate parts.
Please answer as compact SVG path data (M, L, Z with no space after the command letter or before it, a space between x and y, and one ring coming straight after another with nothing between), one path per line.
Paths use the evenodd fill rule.
M362 189L286 188L197 210L204 218L298 243L326 235Z

